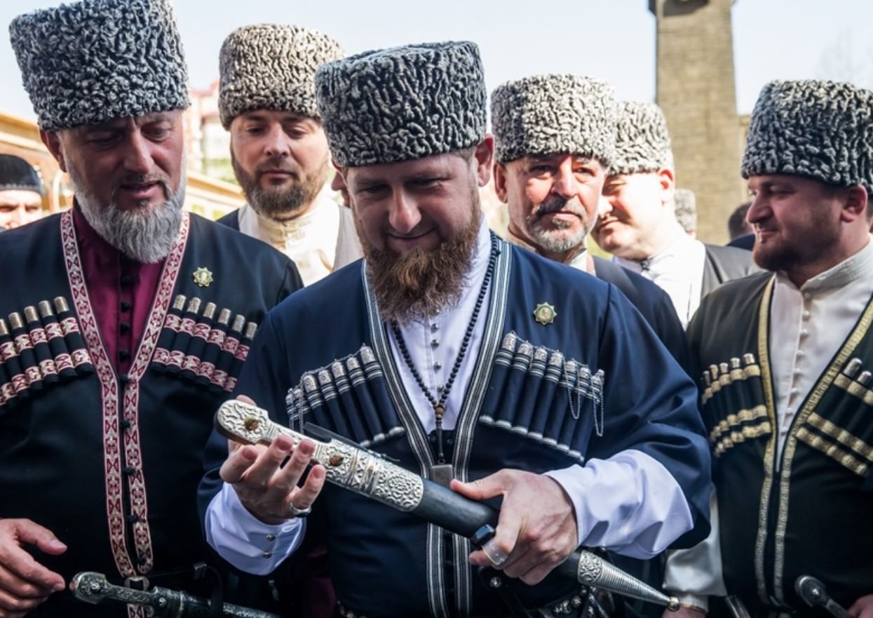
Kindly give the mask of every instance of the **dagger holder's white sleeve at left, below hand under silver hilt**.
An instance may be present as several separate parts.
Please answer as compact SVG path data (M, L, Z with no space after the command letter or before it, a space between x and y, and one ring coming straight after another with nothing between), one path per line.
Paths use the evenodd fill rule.
M306 522L294 518L284 524L265 524L225 483L206 509L205 528L207 542L224 560L245 573L266 575L299 547Z

